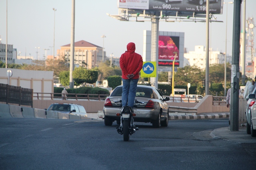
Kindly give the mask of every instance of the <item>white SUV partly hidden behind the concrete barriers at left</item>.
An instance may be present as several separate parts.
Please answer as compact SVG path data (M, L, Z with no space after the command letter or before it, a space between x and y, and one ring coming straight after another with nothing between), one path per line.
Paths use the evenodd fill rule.
M81 106L79 104L55 103L51 104L47 110L87 117L84 106Z

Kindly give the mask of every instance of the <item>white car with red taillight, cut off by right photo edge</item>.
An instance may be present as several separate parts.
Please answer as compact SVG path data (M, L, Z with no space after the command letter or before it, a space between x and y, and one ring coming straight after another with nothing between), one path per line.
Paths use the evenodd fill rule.
M246 113L247 119L247 133L251 134L252 137L256 137L256 94L249 94L249 99L252 99L250 102L250 109ZM249 129L250 127L250 129Z

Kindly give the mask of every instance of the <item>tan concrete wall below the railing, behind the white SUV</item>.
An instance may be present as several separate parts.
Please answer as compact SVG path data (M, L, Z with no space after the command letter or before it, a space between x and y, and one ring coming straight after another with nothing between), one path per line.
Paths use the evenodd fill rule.
M76 101L76 100L33 100L33 107L47 109L53 103L72 103L84 106L87 113L97 113L103 110L105 101Z

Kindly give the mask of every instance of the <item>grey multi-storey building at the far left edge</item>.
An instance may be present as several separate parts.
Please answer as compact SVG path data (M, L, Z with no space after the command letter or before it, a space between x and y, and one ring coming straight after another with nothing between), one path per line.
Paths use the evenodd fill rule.
M15 53L16 52L16 53ZM13 45L7 45L7 64L12 64L12 59L16 58L17 56L17 51L16 49L13 49ZM0 61L3 63L5 62L6 59L6 44L1 44L0 43Z

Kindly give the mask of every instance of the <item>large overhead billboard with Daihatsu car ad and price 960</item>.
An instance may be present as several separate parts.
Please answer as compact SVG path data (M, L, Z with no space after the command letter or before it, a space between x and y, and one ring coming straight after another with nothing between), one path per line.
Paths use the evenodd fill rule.
M222 14L223 0L209 0L209 12ZM206 13L206 0L118 0L118 8Z

